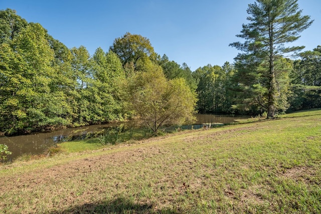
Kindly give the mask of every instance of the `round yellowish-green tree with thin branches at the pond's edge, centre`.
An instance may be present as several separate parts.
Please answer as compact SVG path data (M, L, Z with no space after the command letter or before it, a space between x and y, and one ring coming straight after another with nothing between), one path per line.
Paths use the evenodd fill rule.
M167 80L158 65L136 72L127 79L124 89L127 109L134 111L155 134L162 126L194 119L196 94L183 78Z

